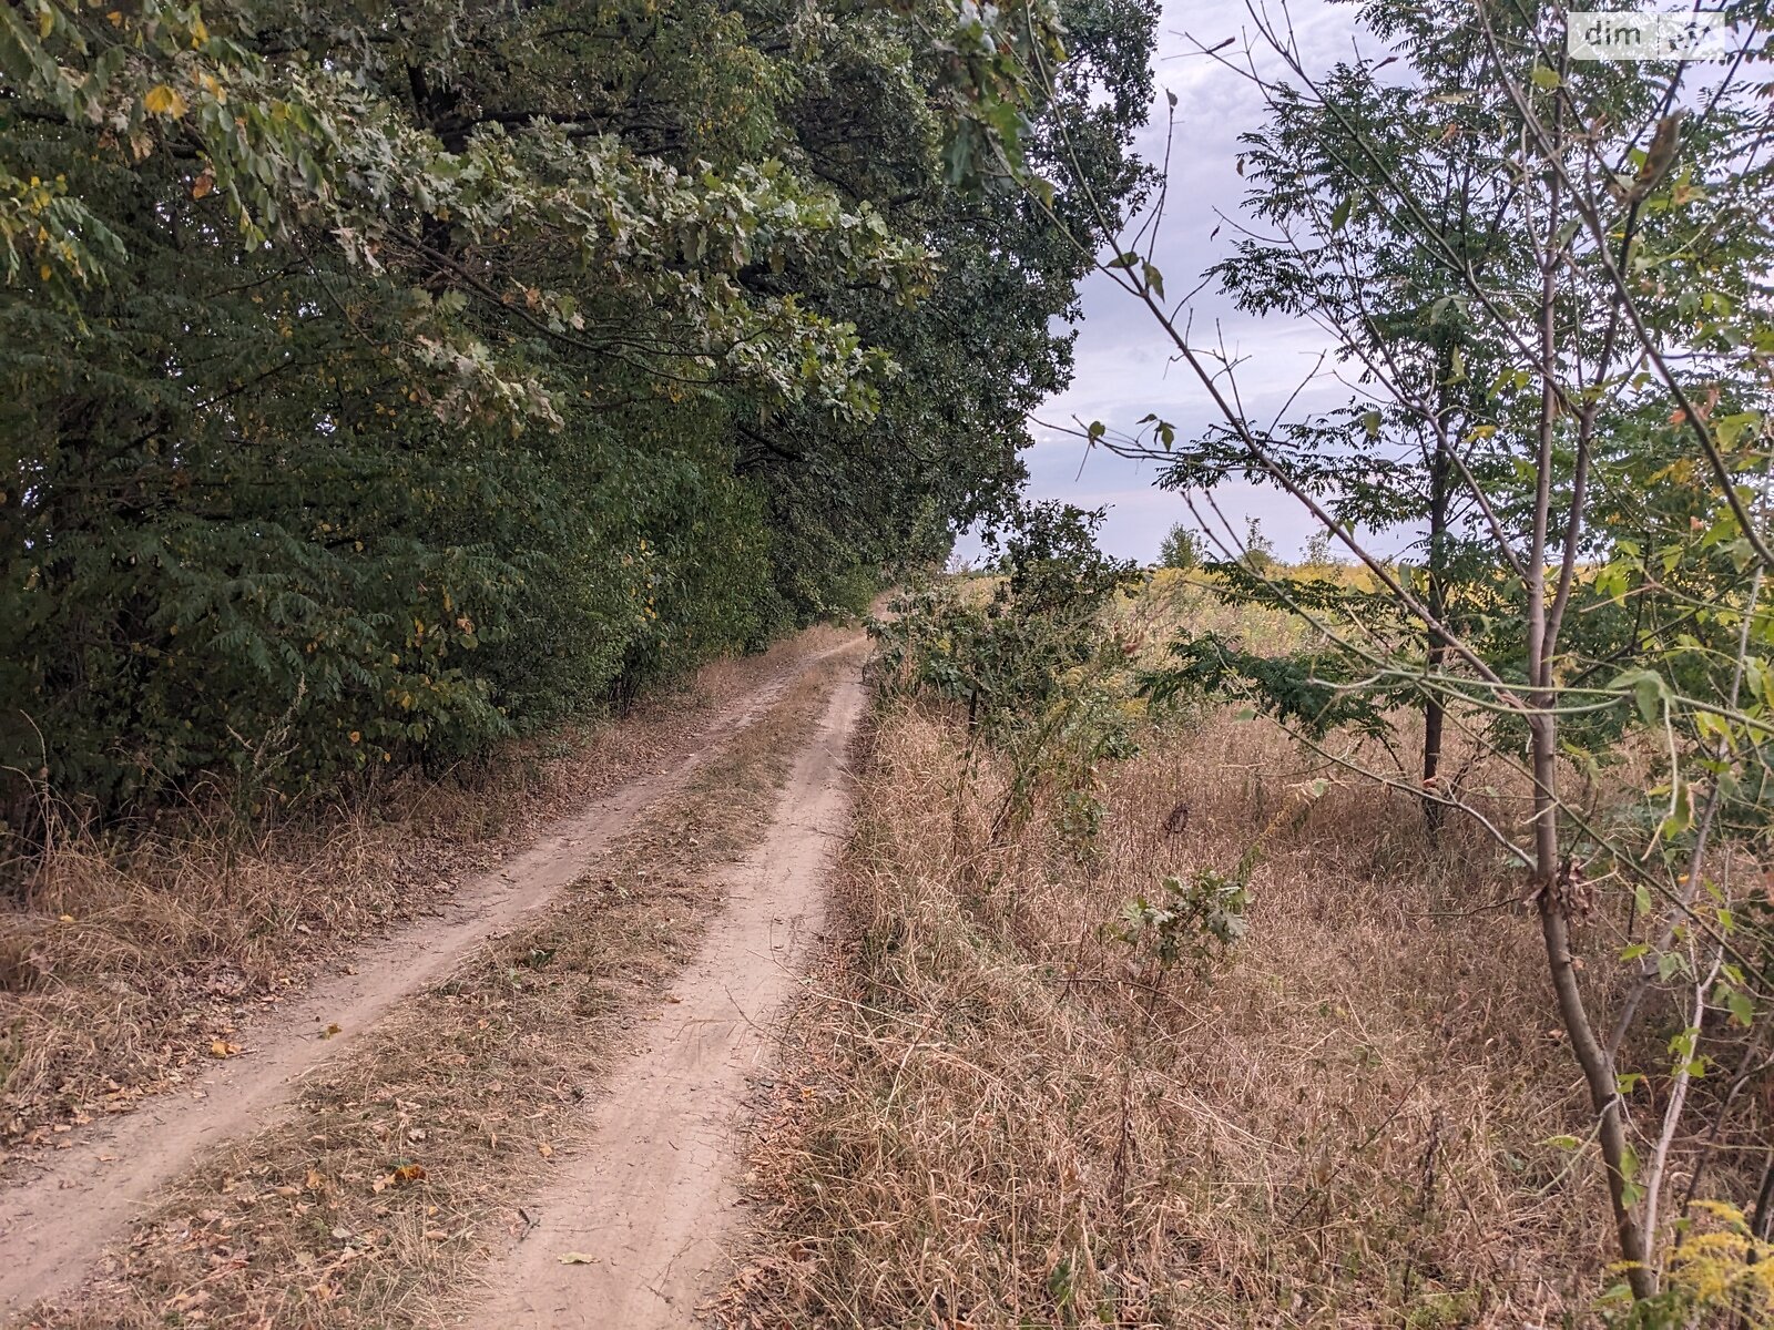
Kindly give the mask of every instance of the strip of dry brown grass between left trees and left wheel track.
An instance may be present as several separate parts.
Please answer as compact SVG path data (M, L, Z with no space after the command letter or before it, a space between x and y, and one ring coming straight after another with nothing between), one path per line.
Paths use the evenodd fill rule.
M387 933L538 826L692 745L738 695L841 640L814 630L718 661L621 720L518 745L438 780L245 826L190 809L73 828L0 906L0 1142L122 1112L177 1084L318 959ZM0 1165L5 1153L0 1151Z

